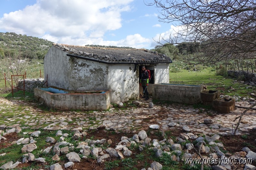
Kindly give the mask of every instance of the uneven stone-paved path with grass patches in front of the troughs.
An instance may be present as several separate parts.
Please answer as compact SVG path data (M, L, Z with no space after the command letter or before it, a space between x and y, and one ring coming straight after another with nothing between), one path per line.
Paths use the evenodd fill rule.
M194 109L191 105L154 105L153 108L149 108L148 104L151 102L151 99L148 101L142 99L140 102L142 102L142 107L126 110L111 108L109 111L51 112L40 110L36 107L37 103L19 100L9 101L0 98L0 113L1 117L5 115L4 113L9 112L13 114L13 116L9 114L9 116L2 118L2 120L8 120L4 122L4 125L10 128L15 127L17 124L19 126L20 124L25 124L21 128L84 130L89 127L97 128L99 125L104 125L106 129L135 132L142 128L149 128L152 124L157 124L162 130L182 129L186 125L194 133L228 135L232 132L232 125L235 124L233 120L245 110L236 108L235 111L228 114L219 114L214 111L205 111L203 108ZM245 101L236 102L236 105L250 106ZM212 119L214 123L211 125L203 124L206 118ZM170 127L168 126L170 122L175 122L177 125ZM249 110L243 117L243 123L240 123L240 132L246 132L248 129L255 127L256 111Z

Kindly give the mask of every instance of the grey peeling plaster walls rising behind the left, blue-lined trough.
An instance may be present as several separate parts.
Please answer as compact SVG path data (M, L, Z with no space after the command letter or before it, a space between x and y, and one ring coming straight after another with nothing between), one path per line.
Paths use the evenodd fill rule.
M44 74L48 86L67 90L107 90L108 65L68 57L67 53L51 47L44 59Z

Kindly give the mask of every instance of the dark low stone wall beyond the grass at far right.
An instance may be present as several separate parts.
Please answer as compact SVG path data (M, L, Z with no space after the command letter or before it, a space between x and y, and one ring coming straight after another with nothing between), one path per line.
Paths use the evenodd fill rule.
M256 84L256 74L252 72L228 70L227 75L238 79L243 78L243 81Z

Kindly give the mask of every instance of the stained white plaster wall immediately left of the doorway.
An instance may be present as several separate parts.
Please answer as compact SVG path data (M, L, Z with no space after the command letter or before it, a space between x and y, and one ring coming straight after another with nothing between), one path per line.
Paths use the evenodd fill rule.
M109 65L108 89L111 90L111 102L119 103L139 97L138 68L134 64Z

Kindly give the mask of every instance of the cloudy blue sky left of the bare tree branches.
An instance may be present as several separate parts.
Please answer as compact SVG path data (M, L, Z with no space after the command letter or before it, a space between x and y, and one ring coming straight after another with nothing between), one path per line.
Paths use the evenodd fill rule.
M144 0L152 2L153 0ZM0 0L0 32L69 45L153 49L175 27L143 0ZM154 41L155 40L155 41Z

